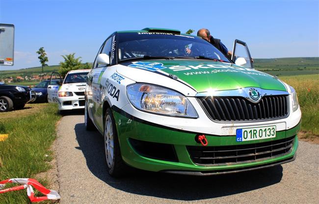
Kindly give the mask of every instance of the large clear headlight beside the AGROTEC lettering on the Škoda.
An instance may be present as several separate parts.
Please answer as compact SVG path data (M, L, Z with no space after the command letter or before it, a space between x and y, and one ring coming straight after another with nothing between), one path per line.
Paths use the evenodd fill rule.
M136 83L127 87L127 94L139 110L169 116L198 117L185 96L160 86Z

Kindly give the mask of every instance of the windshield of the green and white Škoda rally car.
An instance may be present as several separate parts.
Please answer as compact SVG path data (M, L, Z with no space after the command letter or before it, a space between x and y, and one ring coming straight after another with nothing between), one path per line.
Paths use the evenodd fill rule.
M199 57L230 62L212 44L202 38L171 33L124 32L118 33L118 59L151 57Z

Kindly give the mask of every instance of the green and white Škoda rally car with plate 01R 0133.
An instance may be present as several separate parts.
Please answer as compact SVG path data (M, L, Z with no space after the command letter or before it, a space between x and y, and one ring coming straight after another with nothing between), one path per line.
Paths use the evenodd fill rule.
M294 89L253 69L244 42L229 59L178 30L114 32L85 90L85 125L104 135L111 176L128 166L213 175L290 162L300 119Z

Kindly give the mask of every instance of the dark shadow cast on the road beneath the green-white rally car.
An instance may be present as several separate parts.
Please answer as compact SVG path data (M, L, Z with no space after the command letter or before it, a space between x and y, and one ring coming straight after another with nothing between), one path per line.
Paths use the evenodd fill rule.
M75 126L79 147L92 174L108 185L133 194L180 201L195 201L238 194L281 181L281 165L229 175L196 177L136 170L125 178L112 178L106 171L103 137L86 131L84 124Z

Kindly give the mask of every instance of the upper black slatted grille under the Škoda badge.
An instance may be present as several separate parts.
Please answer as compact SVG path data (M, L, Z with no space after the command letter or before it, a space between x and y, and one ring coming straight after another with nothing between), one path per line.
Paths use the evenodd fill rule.
M284 118L289 113L289 95L264 96L253 103L244 97L197 97L213 121L251 121Z

